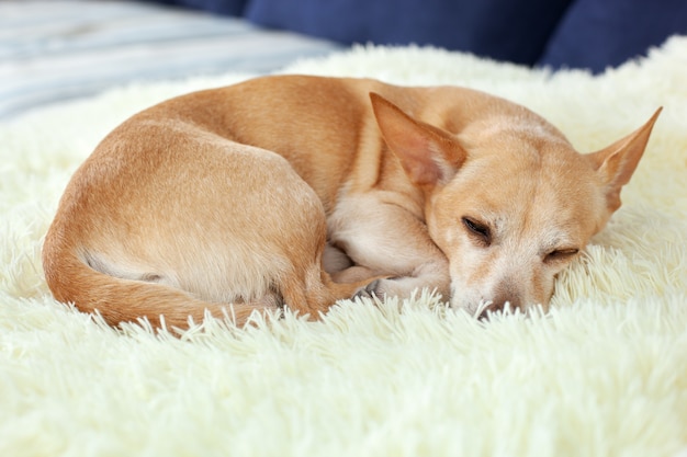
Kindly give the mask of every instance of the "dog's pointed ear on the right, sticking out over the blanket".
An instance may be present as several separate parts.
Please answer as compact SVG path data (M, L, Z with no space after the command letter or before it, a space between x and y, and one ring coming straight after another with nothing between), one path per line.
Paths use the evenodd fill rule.
M646 124L627 137L586 156L606 185L606 202L611 213L620 207L620 190L632 178L661 110L656 110Z

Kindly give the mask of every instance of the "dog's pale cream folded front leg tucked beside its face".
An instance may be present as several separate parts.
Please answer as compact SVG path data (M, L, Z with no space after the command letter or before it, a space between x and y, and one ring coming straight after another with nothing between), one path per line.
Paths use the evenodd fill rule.
M406 298L428 288L450 299L447 258L429 238L425 222L402 205L375 193L347 196L329 218L328 229L330 243L353 263L330 272L336 282L385 276L357 295Z

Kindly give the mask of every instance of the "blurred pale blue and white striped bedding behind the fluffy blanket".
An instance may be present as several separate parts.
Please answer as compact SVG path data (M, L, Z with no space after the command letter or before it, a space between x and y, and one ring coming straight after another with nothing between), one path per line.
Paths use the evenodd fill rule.
M133 1L0 1L0 119L133 81L271 72L338 46Z

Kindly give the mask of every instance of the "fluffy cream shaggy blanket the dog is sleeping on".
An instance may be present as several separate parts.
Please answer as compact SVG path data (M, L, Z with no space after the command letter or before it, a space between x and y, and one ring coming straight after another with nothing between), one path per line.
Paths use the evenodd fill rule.
M413 47L285 71L486 90L582 151L665 110L623 207L547 315L478 322L425 292L344 301L318 322L206 320L181 339L55 301L42 237L116 124L247 76L131 85L0 125L1 456L687 455L686 38L599 77Z

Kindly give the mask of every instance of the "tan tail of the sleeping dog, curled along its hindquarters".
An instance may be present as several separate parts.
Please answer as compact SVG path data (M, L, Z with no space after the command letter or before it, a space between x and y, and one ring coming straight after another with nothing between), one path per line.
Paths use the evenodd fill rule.
M82 312L98 311L113 327L145 318L155 329L188 329L189 318L201 323L206 311L216 318L228 316L240 327L256 309L278 306L272 297L249 304L214 304L168 285L102 273L88 264L75 244L53 230L43 244L43 269L57 300L71 302Z

